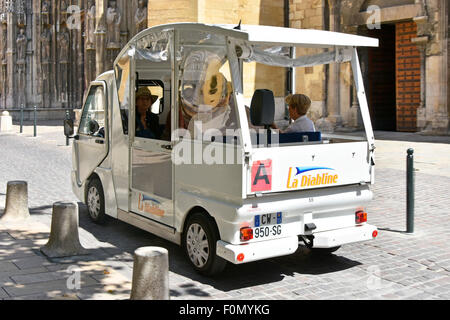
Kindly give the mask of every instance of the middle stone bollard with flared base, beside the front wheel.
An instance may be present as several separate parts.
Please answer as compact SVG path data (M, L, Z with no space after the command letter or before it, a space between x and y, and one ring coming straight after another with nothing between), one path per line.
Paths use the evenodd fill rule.
M78 237L78 205L75 202L53 204L50 239L41 251L49 258L88 254Z

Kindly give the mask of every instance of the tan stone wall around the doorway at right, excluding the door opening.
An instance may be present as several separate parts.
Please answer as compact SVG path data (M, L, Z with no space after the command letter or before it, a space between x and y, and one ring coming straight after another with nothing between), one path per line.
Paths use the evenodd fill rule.
M380 9L376 12L378 21L373 19L373 11L366 12L372 5ZM422 100L417 130L447 133L450 115L448 6L447 0L290 0L289 20L293 28L361 35L367 32L369 21L378 22L381 27L385 23L415 21L418 33L413 40L423 55ZM366 53L366 50L360 51L363 72L368 64ZM343 64L339 71L333 65L299 69L296 79L296 90L313 100L310 116L314 120L326 119L334 127L360 125L360 111L348 63Z

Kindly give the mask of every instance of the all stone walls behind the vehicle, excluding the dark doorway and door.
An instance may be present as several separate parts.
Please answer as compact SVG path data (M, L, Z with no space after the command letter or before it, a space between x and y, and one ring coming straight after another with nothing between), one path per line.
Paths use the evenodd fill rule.
M139 30L173 22L284 26L284 0L0 0L0 109L79 108L89 83L112 67L121 47ZM69 10L75 5L79 15ZM448 0L289 0L289 26L364 34L371 12L380 23L413 20L422 53L422 98L417 128L448 132L450 75ZM114 25L108 17L120 17ZM80 28L70 28L79 18ZM141 20L139 20L141 19ZM143 20L142 20L143 19ZM114 19L113 19L114 20ZM140 22L139 22L140 21ZM23 31L21 31L23 30ZM111 38L115 34L115 38ZM297 50L297 56L320 50ZM363 70L367 69L364 50ZM286 69L248 64L244 94L268 88L283 117ZM358 127L360 113L349 64L298 68L295 92L313 101L310 116L337 127ZM359 119L359 120L358 120Z

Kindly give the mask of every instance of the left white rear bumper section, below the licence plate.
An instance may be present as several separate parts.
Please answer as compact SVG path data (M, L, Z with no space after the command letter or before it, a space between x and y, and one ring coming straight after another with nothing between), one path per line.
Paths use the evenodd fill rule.
M229 262L241 264L285 256L294 253L297 249L298 238L297 236L294 236L243 245L233 245L219 240L217 241L216 253L219 257L222 257Z

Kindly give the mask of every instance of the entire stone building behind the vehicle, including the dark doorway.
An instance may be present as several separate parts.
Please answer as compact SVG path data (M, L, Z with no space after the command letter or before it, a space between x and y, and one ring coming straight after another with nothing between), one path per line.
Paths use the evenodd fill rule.
M147 26L242 21L380 39L359 52L374 128L447 134L448 11L448 0L0 0L0 109L79 108L88 83ZM319 128L360 127L349 63L298 68L295 88L290 70L246 68L247 98L272 89L279 119L294 89L311 97Z

